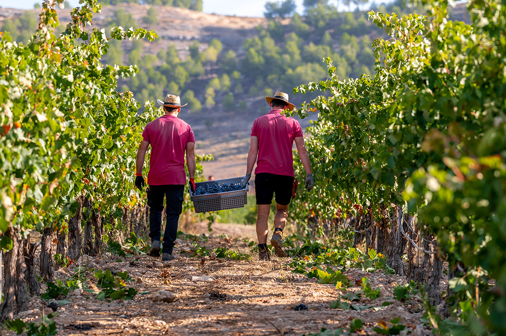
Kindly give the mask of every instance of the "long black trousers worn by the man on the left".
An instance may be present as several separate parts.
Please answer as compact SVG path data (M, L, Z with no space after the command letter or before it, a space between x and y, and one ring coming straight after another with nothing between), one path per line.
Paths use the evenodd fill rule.
M166 184L150 185L148 189L149 206L149 237L151 242L160 241L161 212L163 211L163 198L167 198L167 223L163 233L162 253L171 253L174 249L174 242L178 237L179 215L183 210L184 185Z

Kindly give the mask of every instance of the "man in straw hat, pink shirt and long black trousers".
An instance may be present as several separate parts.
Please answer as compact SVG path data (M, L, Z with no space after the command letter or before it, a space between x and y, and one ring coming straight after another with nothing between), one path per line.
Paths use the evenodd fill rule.
M146 151L151 145L148 185L146 189L149 206L149 237L152 257L160 256L160 228L163 198L167 198L165 214L167 222L163 234L162 261L173 260L172 254L178 233L179 215L183 208L183 190L186 185L186 165L190 188L195 190L195 136L186 122L178 118L181 99L178 95L167 94L163 106L164 115L151 121L142 132L136 161L135 186L142 191L144 177L142 166Z

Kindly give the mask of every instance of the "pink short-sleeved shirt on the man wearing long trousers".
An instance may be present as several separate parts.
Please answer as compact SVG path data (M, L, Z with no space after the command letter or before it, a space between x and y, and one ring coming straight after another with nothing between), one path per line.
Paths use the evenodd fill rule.
M186 143L195 142L190 125L163 115L146 125L142 137L151 145L148 184L186 184Z

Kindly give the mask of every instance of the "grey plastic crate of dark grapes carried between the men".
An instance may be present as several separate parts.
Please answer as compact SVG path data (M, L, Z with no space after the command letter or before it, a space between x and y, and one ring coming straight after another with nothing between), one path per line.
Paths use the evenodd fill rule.
M195 183L195 187L206 184L230 184L240 183L242 177L226 178L222 180L205 181ZM195 212L208 212L226 209L243 208L248 204L247 198L248 186L241 190L226 191L225 193L206 194L206 195L193 195L190 190L190 200L193 202Z

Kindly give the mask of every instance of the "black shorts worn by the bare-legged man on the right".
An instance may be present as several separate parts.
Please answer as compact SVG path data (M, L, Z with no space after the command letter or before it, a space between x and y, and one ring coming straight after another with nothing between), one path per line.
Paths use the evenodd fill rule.
M259 173L255 175L255 194L257 205L271 204L276 194L276 203L288 205L293 189L293 176Z

